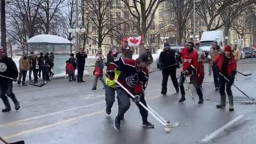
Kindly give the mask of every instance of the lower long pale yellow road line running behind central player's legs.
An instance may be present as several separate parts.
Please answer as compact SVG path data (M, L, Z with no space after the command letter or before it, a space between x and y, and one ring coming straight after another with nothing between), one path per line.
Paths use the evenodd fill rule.
M158 98L158 97L161 97L161 96L150 97L150 98L148 98L148 100L151 100L151 99L154 99L154 98ZM114 106L113 108L118 108L118 106ZM68 118L68 119L62 120L60 122L56 122L56 123L53 123L53 124L41 126L41 127L34 128L34 129L31 129L31 130L26 130L26 131L23 131L23 132L20 132L20 133L17 133L17 134L12 134L12 135L4 137L4 139L7 140L7 139L10 139L10 138L14 138L16 136L21 136L21 135L24 135L24 134L29 134L31 132L37 132L39 130L44 130L46 128L51 128L51 127L54 127L54 126L58 126L60 124L64 124L64 123L67 123L67 122L72 122L72 121L78 120L80 118L85 118L85 117L88 117L88 116L94 116L94 115L101 114L101 113L104 113L104 112L105 112L105 110L101 110L101 111L98 111L98 112L92 112L90 114L84 114L82 116L77 116L77 117L74 117L74 118Z

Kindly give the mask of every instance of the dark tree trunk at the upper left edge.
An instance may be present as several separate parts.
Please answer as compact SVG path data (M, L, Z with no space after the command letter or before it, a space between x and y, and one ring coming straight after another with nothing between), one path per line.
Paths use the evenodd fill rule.
M6 54L6 23L5 23L5 0L1 0L1 46L4 48Z

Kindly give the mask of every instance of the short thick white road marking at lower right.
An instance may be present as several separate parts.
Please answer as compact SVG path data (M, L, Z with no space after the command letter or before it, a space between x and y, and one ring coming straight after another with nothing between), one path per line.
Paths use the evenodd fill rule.
M221 132L223 132L224 130L226 130L226 128L229 128L230 126L232 126L235 122L237 122L238 120L240 120L244 115L239 115L238 117L234 118L233 120L231 120L230 122L226 123L224 126L222 126L221 128L219 128L218 130L214 131L212 134L207 135L204 139L202 139L202 142L208 142L210 140L212 140L213 138L215 138L216 136L218 136L218 134L220 134Z

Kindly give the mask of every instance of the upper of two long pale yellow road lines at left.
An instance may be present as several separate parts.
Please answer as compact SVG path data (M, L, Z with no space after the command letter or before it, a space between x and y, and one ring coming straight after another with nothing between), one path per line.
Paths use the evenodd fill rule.
M17 121L9 122L9 123L6 123L6 124L1 124L0 127L11 126L11 125L19 123L19 122L25 122L25 121L28 121L28 120L34 120L34 119L37 119L37 118L43 118L43 117L46 117L46 116L51 116L51 115L54 115L54 114L60 114L62 112L68 112L68 111L77 110L77 109L80 109L80 108L86 108L86 107L90 107L90 106L95 106L95 105L102 104L102 103L105 103L105 101L101 101L101 102L97 102L97 103L89 104L89 105L85 105L85 106L79 106L79 107L76 107L76 108L70 108L70 109L67 109L67 110L62 110L62 111L59 111L59 112L53 112L53 113L49 113L49 114L45 114L45 115L41 115L41 116L35 116L35 117L32 117L32 118L26 118L24 120L17 120Z

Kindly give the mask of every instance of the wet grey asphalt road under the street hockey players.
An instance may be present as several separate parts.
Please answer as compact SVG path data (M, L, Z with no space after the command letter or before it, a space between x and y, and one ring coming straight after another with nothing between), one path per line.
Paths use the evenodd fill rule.
M178 103L180 93L174 93L171 81L168 82L167 95L162 96L161 72L150 74L146 89L148 105L162 117L180 123L168 134L151 115L148 120L155 128L142 128L135 104L131 104L126 112L121 130L115 130L117 103L114 103L111 115L106 115L103 85L99 82L97 90L92 91L93 76L87 76L84 78L86 82L79 84L66 79L52 80L42 88L14 84L21 108L15 111L11 104L12 111L0 113L0 136L9 142L25 140L26 144L254 144L256 105L235 103L234 112L229 112L228 106L216 109L220 96L209 82L213 78L208 76L207 68L206 64L205 80L208 82L202 87L205 101L201 105L197 104L198 97L192 85L196 102L186 91L186 101ZM241 60L238 70L253 74L248 78L237 74L235 84L256 98L256 58ZM236 100L244 98L234 87L232 90ZM2 106L1 103L0 108Z

